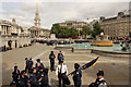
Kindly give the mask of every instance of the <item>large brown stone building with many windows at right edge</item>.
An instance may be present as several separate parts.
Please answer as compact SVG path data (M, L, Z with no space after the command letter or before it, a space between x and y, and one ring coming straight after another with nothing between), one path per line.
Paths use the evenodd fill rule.
M99 18L102 28L105 35L109 35L110 39L118 39L119 37L129 37L131 33L131 15L119 12L117 16Z

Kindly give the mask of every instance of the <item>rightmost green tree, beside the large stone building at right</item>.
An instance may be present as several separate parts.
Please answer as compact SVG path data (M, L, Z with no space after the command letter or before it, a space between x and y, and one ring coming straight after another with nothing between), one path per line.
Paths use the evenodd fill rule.
M99 35L102 32L104 32L98 22L94 23L93 28L94 29L91 32L91 34L94 38L96 38L96 35Z

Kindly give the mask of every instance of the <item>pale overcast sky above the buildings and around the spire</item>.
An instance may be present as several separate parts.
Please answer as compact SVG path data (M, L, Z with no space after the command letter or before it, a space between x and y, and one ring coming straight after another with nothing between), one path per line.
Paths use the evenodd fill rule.
M110 17L129 10L129 2L37 2L41 27L51 28L53 23ZM12 21L23 27L34 25L36 2L2 2L2 20ZM90 22L88 21L88 22Z

